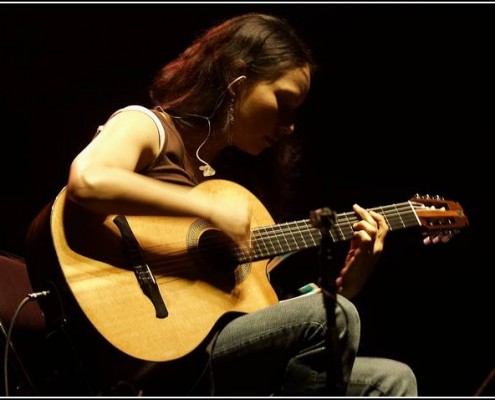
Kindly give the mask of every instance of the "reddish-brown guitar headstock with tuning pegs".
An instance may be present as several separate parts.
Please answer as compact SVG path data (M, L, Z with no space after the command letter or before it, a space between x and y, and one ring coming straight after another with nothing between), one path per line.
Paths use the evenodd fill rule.
M415 195L410 199L421 222L425 244L448 242L469 225L461 205L440 196Z

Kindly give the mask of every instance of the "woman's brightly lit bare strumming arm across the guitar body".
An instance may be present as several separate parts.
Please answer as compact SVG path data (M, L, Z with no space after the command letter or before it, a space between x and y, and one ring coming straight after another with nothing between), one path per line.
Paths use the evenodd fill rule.
M105 214L198 216L245 243L250 231L247 200L214 199L140 174L158 152L153 120L139 111L123 111L74 159L67 195Z

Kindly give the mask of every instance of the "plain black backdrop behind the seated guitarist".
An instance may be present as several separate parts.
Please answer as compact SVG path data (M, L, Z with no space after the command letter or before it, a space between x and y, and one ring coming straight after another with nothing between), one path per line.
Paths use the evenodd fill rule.
M24 255L29 222L111 112L147 105L161 65L246 11L286 17L322 67L298 127L302 217L415 193L458 201L469 216L445 245L391 233L356 303L362 354L410 364L422 396L473 395L495 360L485 211L494 5L1 4L0 249Z

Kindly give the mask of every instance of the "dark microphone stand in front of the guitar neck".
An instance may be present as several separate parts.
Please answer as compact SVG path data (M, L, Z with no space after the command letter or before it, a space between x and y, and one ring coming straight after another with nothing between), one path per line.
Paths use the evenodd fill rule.
M337 306L337 285L335 283L340 268L336 266L332 255L333 240L330 229L335 223L335 213L329 208L311 211L310 220L321 232L320 242L320 282L323 303L327 316L327 390L330 396L345 396L345 384L342 377L342 363L335 308Z

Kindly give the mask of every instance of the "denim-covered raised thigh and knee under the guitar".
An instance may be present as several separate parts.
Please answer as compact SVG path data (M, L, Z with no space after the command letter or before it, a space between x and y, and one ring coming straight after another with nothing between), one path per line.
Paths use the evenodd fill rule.
M357 311L339 296L335 315L339 340L345 342L343 357L352 365L359 342ZM276 392L293 357L325 345L326 326L321 294L286 300L234 319L219 333L212 352L216 394Z

